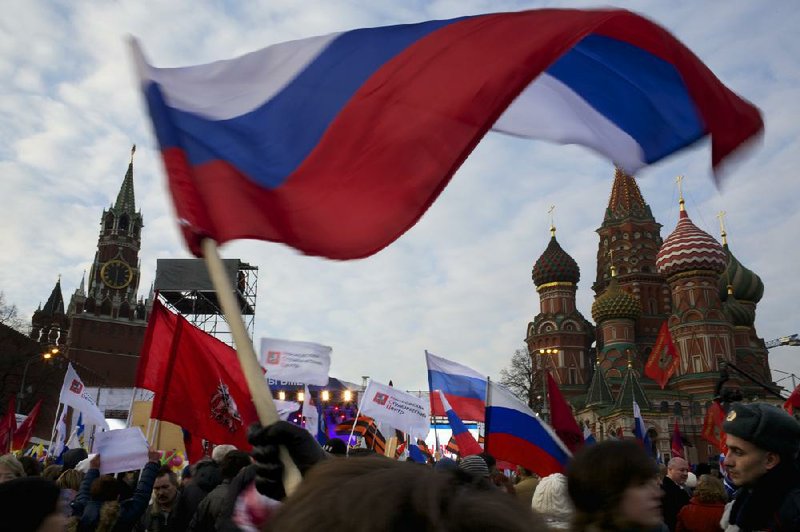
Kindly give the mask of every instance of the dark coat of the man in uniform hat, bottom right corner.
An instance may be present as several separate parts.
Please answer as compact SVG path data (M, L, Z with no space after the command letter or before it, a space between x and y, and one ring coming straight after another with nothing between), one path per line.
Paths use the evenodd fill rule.
M728 503L723 525L736 525L741 532L800 530L800 471L781 462L756 481L741 488Z

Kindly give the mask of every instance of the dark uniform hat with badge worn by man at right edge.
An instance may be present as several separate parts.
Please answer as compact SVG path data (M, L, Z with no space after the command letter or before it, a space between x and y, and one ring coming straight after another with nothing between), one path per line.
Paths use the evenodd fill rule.
M794 455L800 449L800 423L767 403L733 403L722 428L765 451Z

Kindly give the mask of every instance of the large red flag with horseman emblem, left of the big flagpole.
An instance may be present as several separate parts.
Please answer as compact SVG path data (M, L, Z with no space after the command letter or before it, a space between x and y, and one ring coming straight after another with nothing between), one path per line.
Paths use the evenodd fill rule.
M155 392L153 419L183 427L192 438L249 449L258 421L236 351L158 300L147 325L136 386Z

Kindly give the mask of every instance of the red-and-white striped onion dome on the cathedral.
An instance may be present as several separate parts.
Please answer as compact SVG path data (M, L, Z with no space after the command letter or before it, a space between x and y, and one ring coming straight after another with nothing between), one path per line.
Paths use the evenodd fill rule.
M656 255L656 267L659 273L667 277L691 270L722 273L727 264L728 257L722 246L711 235L692 223L681 203L678 225L664 240Z

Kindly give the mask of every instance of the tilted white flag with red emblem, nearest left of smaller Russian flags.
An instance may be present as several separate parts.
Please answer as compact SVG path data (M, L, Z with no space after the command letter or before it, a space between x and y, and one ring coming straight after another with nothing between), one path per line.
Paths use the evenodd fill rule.
M361 413L380 423L425 439L430 431L427 399L402 392L388 384L369 381L361 402ZM387 438L389 434L384 434Z

